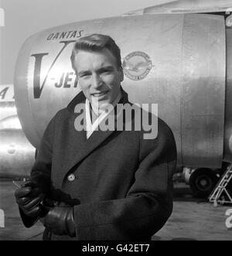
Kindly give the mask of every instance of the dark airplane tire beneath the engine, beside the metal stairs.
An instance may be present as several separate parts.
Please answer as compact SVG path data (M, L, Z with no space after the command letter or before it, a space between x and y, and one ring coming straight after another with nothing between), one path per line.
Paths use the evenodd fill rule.
M207 198L218 181L217 175L211 169L196 169L189 178L189 186L193 196Z

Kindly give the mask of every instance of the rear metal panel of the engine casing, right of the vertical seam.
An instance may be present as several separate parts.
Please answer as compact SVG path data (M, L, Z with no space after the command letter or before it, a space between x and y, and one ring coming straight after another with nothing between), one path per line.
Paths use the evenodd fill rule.
M220 18L186 15L184 22L180 109L183 166L214 167L222 161L226 42Z

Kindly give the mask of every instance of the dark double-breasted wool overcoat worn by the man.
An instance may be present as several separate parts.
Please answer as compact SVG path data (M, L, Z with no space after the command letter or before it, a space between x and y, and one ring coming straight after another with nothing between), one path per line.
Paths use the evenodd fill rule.
M53 200L74 208L76 237L51 240L149 240L172 213L176 144L158 121L158 136L144 131L77 131L83 93L49 122L31 176L43 180ZM128 97L123 92L123 104ZM82 113L83 114L83 113ZM80 117L80 116L79 116Z

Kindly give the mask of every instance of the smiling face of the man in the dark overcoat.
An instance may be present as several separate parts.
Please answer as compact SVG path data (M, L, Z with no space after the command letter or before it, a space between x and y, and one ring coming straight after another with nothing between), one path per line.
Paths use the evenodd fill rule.
M123 73L118 69L115 57L108 49L80 50L74 67L78 83L91 104L106 108L118 96Z

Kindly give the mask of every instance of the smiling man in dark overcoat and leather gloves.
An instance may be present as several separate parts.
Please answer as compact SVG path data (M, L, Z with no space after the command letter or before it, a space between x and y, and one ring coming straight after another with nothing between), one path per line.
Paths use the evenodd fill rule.
M172 131L160 119L152 139L143 129L101 131L109 114L116 121L123 114L116 105L129 104L110 36L79 39L71 62L82 92L49 122L31 180L15 191L22 221L31 227L40 219L45 240L150 240L172 213Z

